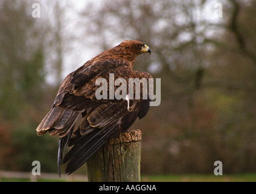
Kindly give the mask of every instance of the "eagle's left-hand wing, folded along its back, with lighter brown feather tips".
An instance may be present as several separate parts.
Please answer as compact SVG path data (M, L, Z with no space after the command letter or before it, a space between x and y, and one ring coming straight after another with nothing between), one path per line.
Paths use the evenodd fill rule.
M104 75L109 70L116 69L120 64L123 64L124 67L127 65L126 61L116 59L97 61L93 58L75 72L67 75L59 87L52 109L36 129L38 135L49 132L50 135L66 136L72 126L75 125L79 113L83 113L88 106L92 108L93 104L96 104L85 98L94 92L91 90L95 85L92 81L94 80L93 78ZM81 94L81 91L83 91L83 94Z

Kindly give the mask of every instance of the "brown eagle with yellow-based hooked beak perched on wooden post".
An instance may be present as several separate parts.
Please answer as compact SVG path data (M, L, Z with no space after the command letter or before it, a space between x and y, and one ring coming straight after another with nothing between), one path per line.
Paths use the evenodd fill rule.
M132 70L136 56L142 53L150 54L143 42L123 41L90 59L62 81L52 109L36 129L38 135L48 132L59 136L59 176L62 164L67 162L65 173L70 175L107 141L126 132L136 118L146 116L150 98L127 98L129 93L121 99L115 96L99 99L96 95L103 85L96 84L99 78L106 79L108 84L110 75L115 79L123 78L127 83L130 78L146 78L147 81L152 78L149 73ZM110 87L117 89L116 85L107 85L106 90ZM141 88L140 93L143 92ZM82 119L76 124L79 115ZM78 127L75 129L75 126ZM64 156L67 146L71 149Z

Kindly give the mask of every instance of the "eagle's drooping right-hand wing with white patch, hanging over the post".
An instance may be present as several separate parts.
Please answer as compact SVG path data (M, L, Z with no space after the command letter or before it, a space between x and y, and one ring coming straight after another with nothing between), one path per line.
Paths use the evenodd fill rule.
M139 73L126 67L119 67L103 75L96 76L85 84L86 87L84 86L84 89L77 89L73 93L74 95L86 96L86 99L89 99L92 105L83 113L82 123L74 133L75 136L69 141L69 146L73 147L63 161L64 163L69 162L66 173L72 173L82 166L109 139L125 132L137 117L143 118L149 110L149 98L130 100L132 101L130 104L133 104L132 107L128 107L126 99L105 99L102 101L96 99L95 92L99 86L95 85L95 81L97 78L109 80L109 73L114 73L115 79L126 79L127 83L129 78L150 78L147 73ZM86 90L89 88L90 90ZM60 106L62 107L62 104Z

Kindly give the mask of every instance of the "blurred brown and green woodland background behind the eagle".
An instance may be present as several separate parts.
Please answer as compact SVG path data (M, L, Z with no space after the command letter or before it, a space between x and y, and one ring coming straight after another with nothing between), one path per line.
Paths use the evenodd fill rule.
M256 172L256 1L0 2L0 169L57 172L58 137L37 136L62 79L125 39L149 45L134 69L161 78L141 173ZM218 7L222 5L223 15Z

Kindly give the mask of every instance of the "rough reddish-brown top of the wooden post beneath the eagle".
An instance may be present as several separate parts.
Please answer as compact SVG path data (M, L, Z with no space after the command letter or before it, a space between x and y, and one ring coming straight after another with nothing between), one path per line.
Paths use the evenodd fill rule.
M133 141L141 141L141 135L141 131L138 129L124 132L115 138L110 139L110 144L122 144Z

